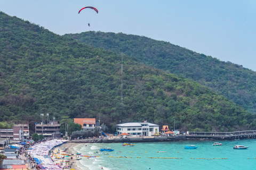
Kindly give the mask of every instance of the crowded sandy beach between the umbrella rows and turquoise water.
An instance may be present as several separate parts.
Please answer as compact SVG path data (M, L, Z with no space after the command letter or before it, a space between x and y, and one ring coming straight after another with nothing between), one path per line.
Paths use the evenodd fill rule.
M75 150L73 149L73 147L79 145L79 143L65 143L63 145L61 145L60 147L54 148L53 149L53 153L51 154L52 160L54 161L54 163L59 164L61 167L65 167L65 166L70 166L71 168L67 168L67 169L75 169L75 170L82 170L81 168L79 168L77 166L77 162L79 160L76 160L76 153ZM67 152L64 152L65 150L62 148L68 148ZM67 157L66 155L71 155L69 157ZM73 155L73 156L72 156ZM55 159L57 158L57 159ZM58 159L60 158L60 159ZM64 159L61 159L64 158ZM73 158L73 159L71 159ZM69 161L69 162L66 162ZM62 163L62 164L61 164Z

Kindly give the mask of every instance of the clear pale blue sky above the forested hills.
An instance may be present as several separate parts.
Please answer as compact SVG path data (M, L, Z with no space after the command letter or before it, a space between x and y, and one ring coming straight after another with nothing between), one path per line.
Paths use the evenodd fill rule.
M78 14L85 6L99 13ZM255 0L0 0L0 11L59 35L145 36L256 71Z

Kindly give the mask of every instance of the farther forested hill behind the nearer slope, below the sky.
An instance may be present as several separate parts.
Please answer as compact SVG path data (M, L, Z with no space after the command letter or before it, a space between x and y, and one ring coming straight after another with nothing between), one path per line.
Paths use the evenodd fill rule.
M65 36L133 56L149 66L193 79L256 113L256 73L242 65L222 62L165 41L124 33L83 32Z

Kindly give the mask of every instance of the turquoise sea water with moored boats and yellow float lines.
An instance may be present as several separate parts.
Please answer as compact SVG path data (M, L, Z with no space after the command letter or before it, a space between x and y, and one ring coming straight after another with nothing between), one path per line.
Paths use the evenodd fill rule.
M214 142L223 143L213 146ZM256 169L256 140L235 141L174 141L134 143L135 146L122 146L123 143L86 143L74 147L83 157L77 164L81 169ZM85 147L85 145L87 145ZM197 149L184 149L195 145ZM233 149L235 145L249 146L248 149ZM110 147L111 152L101 152L100 148ZM93 154L98 151L99 154ZM166 151L159 153L158 151ZM109 155L104 155L108 153ZM113 156L113 157L110 157ZM119 157L127 158L119 158ZM129 158L128 158L129 157ZM154 157L154 158L149 158ZM168 158L168 159L167 159ZM170 158L170 159L169 159ZM178 158L178 159L177 159ZM200 158L200 159L199 159ZM214 159L213 159L214 158ZM227 159L222 159L227 158Z

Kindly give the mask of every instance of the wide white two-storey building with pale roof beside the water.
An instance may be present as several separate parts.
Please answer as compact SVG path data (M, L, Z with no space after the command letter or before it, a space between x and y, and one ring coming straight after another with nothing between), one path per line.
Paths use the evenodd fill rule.
M123 123L116 125L117 135L121 133L129 133L131 137L139 135L151 136L159 134L159 125L152 123Z

